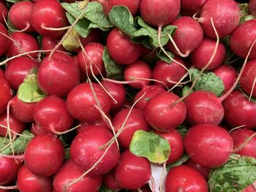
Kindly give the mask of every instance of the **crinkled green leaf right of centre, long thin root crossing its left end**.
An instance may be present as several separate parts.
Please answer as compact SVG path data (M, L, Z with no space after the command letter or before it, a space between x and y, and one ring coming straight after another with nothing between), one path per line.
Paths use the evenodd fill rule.
M189 69L192 77L192 81L195 80L197 75L200 73L199 69ZM222 79L219 78L214 72L203 72L195 84L195 90L211 91L216 96L221 96L225 90L225 86Z

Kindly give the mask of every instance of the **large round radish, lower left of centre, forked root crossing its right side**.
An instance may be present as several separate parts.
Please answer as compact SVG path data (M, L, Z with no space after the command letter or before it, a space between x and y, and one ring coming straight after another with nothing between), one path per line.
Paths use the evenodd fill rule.
M70 146L72 161L74 161L83 172L88 171L99 161L99 158L102 157L107 148L99 149L99 147L105 145L112 137L113 135L106 128L94 126L84 129L75 137ZM113 145L108 148L102 160L99 161L99 164L97 164L89 174L99 175L109 172L116 166L119 157L120 153L117 145L113 143Z

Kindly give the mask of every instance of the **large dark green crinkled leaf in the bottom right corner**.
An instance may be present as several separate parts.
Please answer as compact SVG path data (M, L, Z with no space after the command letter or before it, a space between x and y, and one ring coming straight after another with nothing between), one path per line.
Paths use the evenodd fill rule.
M211 192L243 191L256 180L256 159L241 156L230 158L227 164L211 169L208 187Z

